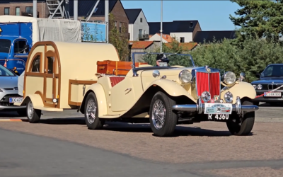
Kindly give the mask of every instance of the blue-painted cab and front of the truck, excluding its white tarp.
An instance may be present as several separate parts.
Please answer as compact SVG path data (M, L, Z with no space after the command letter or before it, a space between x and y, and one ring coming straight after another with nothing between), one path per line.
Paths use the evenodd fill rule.
M32 23L0 23L0 64L19 74L25 71L25 62L33 46Z

